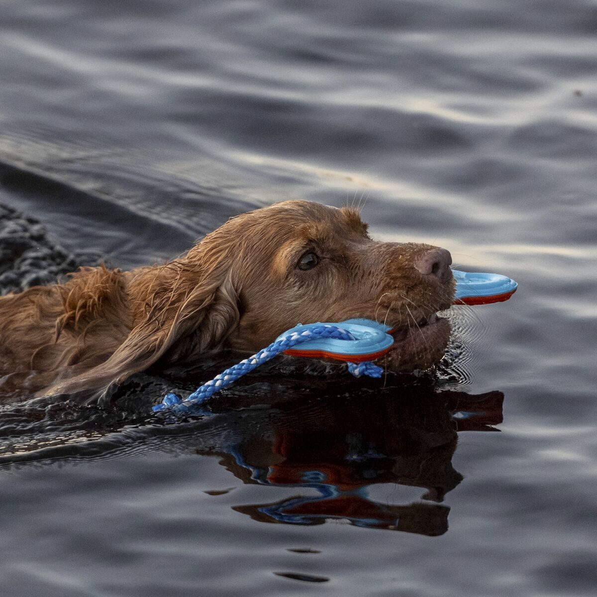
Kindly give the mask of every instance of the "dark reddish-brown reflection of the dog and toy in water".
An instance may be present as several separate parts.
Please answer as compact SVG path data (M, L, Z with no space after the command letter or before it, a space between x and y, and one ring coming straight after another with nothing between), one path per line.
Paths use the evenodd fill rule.
M315 496L303 491L274 503L234 507L256 521L316 525L336 519L438 536L447 531L450 512L440 502L463 479L451 462L457 432L495 431L502 402L501 392L424 387L359 398L307 397L253 411L257 416L250 410L229 414L216 434L221 442L210 433L211 445L197 453L219 456L247 484L316 490ZM381 483L426 491L416 503L380 503L368 490Z

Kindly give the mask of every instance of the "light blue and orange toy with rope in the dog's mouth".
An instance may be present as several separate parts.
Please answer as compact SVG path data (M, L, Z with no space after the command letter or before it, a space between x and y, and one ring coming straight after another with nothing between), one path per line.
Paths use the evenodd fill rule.
M454 304L488 304L508 300L518 286L515 281L497 273L469 273L453 270L456 278ZM214 393L270 361L279 353L291 356L330 358L344 361L355 377L381 377L383 369L373 364L392 348L394 338L389 325L371 319L347 319L339 323L298 324L287 330L269 346L230 367L199 387L184 400L168 393L154 412L170 410L182 414L197 410Z

